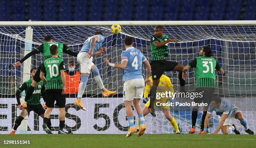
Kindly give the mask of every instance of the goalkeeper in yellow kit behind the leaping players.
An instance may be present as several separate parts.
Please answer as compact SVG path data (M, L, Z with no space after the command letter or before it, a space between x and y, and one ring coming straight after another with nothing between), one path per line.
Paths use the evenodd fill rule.
M143 116L145 118L145 116L149 113L148 111L148 106L150 104L150 99L148 100L148 92L152 87L152 76L149 77L151 83L148 85L146 85L145 87L145 91L144 91L144 99L143 99L143 103L146 103L145 107L143 108ZM171 80L169 79L168 76L162 74L162 76L160 77L160 82L158 84L156 93L165 93L166 91L171 91L172 93L174 93L174 89L173 89L173 85ZM161 97L161 99L155 99L154 101L154 108L156 108L156 103L159 102L160 104L162 103L166 103L166 101L169 99L169 97ZM159 104L158 103L158 104ZM178 125L174 119L174 117L172 117L171 113L170 113L170 106L160 106L164 116L166 117L167 120L169 120L169 122L171 123L172 127L175 130L175 133L180 133L179 132L179 128ZM140 122L138 121L138 126L140 126Z

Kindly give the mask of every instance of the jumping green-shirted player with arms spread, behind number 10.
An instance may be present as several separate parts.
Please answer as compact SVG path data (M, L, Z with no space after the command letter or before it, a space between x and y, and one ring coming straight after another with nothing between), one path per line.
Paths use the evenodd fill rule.
M29 52L19 62L16 62L15 63L15 67L20 66L22 62L24 62L26 59L28 59L32 55L39 54L39 53L43 53L44 61L46 59L51 58L50 46L52 44L56 44L56 46L58 47L58 50L59 50L58 57L59 58L62 59L63 52L66 53L66 54L72 55L74 57L77 57L77 53L74 53L74 52L70 51L69 47L67 47L66 44L59 43L59 42L54 42L53 39L51 38L51 35L46 35L44 37L44 43L41 44L39 47L35 48L35 50L33 50L32 52ZM33 94L33 91L34 91L36 85L38 84L38 82L41 81L41 79L40 79L40 71L41 71L41 67L42 66L43 66L43 63L40 64L40 66L38 67L38 71L36 72L36 74L34 76L33 82L31 83L31 86L28 88L27 94L25 96L25 101L23 102L24 105L26 105L26 101L28 101L28 99ZM22 106L23 106L23 104L22 104ZM44 109L46 109L46 106L44 106Z

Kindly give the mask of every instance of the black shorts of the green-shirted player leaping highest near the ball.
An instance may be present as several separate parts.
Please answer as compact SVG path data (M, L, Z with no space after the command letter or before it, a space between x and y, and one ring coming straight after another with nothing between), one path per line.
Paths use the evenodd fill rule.
M165 59L151 61L152 79L160 79L162 74L167 71L172 71L178 65L177 62L167 61Z

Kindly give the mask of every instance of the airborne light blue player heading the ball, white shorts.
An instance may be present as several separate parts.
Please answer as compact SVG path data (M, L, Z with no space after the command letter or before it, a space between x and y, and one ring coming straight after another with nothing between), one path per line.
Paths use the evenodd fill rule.
M77 62L80 64L80 73L81 73L81 83L79 84L77 99L74 102L75 105L79 106L80 109L86 111L84 105L82 104L82 96L84 94L84 90L86 88L86 84L90 75L90 72L93 73L94 79L97 82L98 86L102 90L103 97L110 96L115 94L116 91L109 91L103 85L102 79L100 77L99 69L92 62L92 56L96 54L100 54L107 50L106 47L102 47L102 42L104 42L105 38L102 35L102 32L97 31L95 35L89 37L83 44L82 49L77 55Z

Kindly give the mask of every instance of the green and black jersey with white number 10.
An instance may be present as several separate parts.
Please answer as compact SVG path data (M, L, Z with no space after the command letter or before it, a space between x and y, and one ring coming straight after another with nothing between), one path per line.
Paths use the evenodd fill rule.
M63 88L60 71L65 71L63 59L51 57L44 61L41 72L46 73L46 90Z

